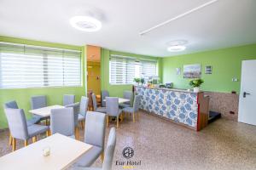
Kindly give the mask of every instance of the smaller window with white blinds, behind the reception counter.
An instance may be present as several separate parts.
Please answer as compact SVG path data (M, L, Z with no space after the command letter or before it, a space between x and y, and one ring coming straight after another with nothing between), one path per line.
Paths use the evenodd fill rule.
M132 84L135 77L157 76L157 61L111 55L109 61L110 84Z

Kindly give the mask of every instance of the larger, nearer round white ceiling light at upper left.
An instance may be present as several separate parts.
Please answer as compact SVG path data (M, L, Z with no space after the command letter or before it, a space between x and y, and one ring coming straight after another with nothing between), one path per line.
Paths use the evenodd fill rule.
M74 16L69 22L80 31L99 31L102 28L102 22L90 16Z

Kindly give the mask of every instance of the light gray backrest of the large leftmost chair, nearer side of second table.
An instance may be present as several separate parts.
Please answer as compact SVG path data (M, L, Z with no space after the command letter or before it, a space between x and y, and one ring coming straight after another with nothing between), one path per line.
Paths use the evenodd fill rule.
M26 116L23 109L4 109L7 117L9 130L13 138L26 140L28 139Z

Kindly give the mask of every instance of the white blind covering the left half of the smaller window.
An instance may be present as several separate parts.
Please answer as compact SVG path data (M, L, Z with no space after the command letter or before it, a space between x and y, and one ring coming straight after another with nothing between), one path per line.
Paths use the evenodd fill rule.
M109 82L131 84L135 77L135 59L111 56L109 61Z

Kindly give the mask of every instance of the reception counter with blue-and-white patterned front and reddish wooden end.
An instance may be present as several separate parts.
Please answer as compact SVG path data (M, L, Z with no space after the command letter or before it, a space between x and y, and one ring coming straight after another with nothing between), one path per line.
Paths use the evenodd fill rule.
M142 96L140 109L148 113L197 131L207 126L209 97L203 92L141 86L134 91Z

